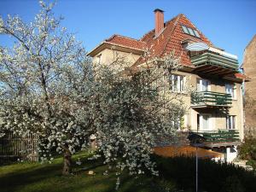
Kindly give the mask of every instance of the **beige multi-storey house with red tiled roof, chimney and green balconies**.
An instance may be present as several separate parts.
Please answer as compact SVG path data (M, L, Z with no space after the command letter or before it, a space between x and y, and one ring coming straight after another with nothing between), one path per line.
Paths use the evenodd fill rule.
M154 10L155 27L140 39L113 35L92 49L93 61L104 65L115 54L125 56L131 67L143 66L143 54L152 58L174 51L183 67L172 74L170 89L180 92L189 107L179 131L194 131L205 138L201 148L221 152L226 160L236 157L244 138L242 83L238 60L212 42L183 14L164 22L164 11ZM149 58L150 59L150 58ZM183 94L189 82L195 91Z

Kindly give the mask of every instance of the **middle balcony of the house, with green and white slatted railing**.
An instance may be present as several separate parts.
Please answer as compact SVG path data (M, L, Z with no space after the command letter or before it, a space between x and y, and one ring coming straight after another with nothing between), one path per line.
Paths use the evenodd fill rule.
M232 97L230 94L213 91L201 91L191 94L191 108L230 108Z

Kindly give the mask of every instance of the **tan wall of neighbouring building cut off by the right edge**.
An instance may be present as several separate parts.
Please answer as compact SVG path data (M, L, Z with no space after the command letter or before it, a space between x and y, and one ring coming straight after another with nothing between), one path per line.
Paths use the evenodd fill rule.
M256 35L244 50L241 68L251 78L245 83L245 132L256 137Z

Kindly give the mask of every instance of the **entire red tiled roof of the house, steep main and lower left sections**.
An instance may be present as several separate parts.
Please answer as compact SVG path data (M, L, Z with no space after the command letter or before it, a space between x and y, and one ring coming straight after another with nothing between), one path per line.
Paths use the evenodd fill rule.
M192 29L199 32L201 38L195 38L188 34L183 33L181 25L189 26ZM154 30L146 33L140 40L134 38L128 38L121 35L113 35L108 38L106 42L111 44L119 44L121 46L129 47L131 49L148 49L150 56L163 56L165 54L174 51L174 54L181 59L181 63L185 66L193 67L189 60L189 55L185 49L183 49L182 41L191 39L195 42L203 42L208 45L212 43L194 26L194 24L183 14L177 15L172 20L165 23L163 32L158 37L154 37ZM150 58L149 58L150 59ZM140 58L134 66L143 62L143 58Z

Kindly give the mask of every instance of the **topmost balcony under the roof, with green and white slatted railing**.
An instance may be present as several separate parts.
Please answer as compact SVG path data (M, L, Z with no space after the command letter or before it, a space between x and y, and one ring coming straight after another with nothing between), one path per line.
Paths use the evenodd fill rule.
M195 73L224 76L237 73L239 68L238 60L227 53L221 55L207 51L191 56L190 61L195 65Z

